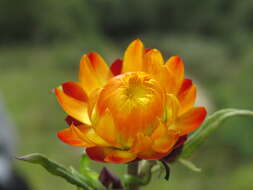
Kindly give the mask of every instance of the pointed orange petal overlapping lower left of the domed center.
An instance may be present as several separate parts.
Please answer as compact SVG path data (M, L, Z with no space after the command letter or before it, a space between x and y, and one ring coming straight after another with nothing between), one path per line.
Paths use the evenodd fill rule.
M120 147L117 140L119 135L109 109L107 109L103 115L98 117L98 121L94 124L94 129L104 140L116 147Z

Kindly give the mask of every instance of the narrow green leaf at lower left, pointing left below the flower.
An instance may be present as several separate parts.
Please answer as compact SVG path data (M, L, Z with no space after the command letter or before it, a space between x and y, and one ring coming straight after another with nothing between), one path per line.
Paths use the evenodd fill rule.
M96 183L90 181L92 179L90 176L82 175L79 172L75 171L73 168L69 170L64 166L62 166L61 164L49 160L42 154L33 153L22 157L18 157L17 159L33 164L39 164L42 167L44 167L49 173L62 177L69 183L76 185L82 188L83 190L101 189L101 186L99 187L95 186L94 184ZM105 190L105 188L102 188L102 190Z

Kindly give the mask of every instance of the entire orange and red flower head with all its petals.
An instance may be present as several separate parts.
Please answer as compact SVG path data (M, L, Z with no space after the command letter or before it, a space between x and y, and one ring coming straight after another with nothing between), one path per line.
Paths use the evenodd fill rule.
M194 107L196 86L184 78L182 59L165 62L140 40L110 68L99 54L84 55L79 81L55 94L69 124L58 137L100 162L161 159L206 116L204 107Z

